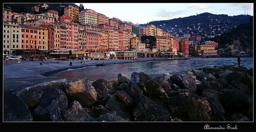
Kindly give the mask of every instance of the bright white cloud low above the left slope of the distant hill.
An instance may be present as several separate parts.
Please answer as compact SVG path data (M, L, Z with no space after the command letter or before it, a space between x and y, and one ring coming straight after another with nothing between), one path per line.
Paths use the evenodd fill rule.
M188 10L187 10L188 11ZM171 18L180 14L186 14L187 11L185 10L177 10L177 11L168 11L166 9L162 9L159 12L155 13L156 17L163 17L163 18Z

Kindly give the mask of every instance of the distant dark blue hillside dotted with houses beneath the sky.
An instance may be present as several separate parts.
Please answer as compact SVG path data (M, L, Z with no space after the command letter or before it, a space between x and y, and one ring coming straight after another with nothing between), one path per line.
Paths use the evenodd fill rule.
M250 15L228 16L224 14L215 15L205 12L189 17L153 21L148 24L156 25L163 31L167 31L172 34L177 32L179 35L190 33L191 35L204 36L204 34L207 34L218 36L232 28L235 28L239 24L248 23L249 17ZM146 24L140 24L140 27L145 25Z

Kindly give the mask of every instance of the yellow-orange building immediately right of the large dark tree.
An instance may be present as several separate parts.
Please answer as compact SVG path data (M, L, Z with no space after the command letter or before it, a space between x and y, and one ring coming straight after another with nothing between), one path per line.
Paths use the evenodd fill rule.
M163 37L163 36L155 36L155 37L156 37L156 50L157 51L168 51L170 45L167 42L167 38Z

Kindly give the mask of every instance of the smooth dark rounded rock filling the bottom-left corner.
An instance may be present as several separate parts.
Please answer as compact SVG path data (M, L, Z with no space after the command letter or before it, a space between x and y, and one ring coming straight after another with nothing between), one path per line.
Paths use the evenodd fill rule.
M15 94L4 92L4 122L32 122L26 104Z

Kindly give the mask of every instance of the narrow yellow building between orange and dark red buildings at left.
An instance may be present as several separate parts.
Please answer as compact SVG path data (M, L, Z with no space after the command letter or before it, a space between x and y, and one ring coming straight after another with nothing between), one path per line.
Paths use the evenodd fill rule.
M43 27L38 27L38 49L48 50L48 29Z

